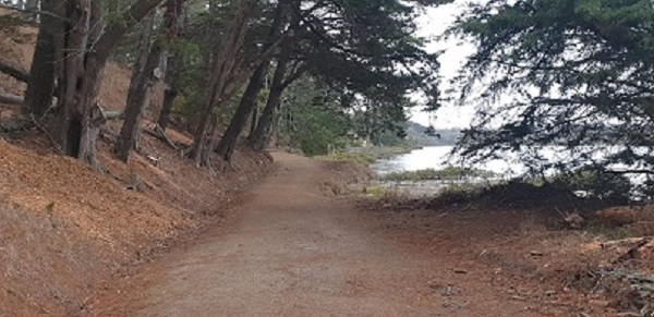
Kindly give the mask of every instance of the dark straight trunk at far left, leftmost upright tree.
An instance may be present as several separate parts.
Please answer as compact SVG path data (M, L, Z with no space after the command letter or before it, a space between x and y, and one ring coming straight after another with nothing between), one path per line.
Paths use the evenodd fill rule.
M41 10L52 11L52 0L41 0ZM55 17L41 14L36 48L25 92L26 110L36 118L43 118L52 106L55 93Z

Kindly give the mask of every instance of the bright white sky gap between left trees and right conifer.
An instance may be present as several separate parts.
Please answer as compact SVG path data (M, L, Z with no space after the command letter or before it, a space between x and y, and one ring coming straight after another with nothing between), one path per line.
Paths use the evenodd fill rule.
M419 20L419 36L432 37L443 34L453 24L457 15L462 12L465 1L455 1L447 5L427 9ZM450 88L449 80L457 75L459 69L465 62L468 56L474 52L474 46L471 44L460 44L458 40L434 41L427 46L427 50L436 52L445 50L440 57L440 74L443 76L441 92ZM444 95L444 97L450 97ZM472 106L457 106L453 101L445 101L444 106L435 113L425 113L414 109L411 113L411 121L423 125L433 124L436 129L448 127L468 127L474 114Z

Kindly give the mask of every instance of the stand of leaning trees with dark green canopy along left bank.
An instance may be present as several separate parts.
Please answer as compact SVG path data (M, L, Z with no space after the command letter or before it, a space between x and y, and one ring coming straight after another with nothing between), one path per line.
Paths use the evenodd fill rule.
M413 106L410 95L422 96L431 109L439 105L438 54L416 36L415 19L424 8L451 0L56 2L41 0L40 10L14 4L34 11L40 26L26 78L26 112L50 130L62 154L98 170L96 139L105 122L124 120L113 148L128 161L159 81L167 89L156 134L166 139L170 113L182 114L194 134L184 154L199 166L214 153L230 161L247 123L249 144L265 147L284 92L300 78L334 96L304 105L315 106L316 113L303 118L340 120L356 109L362 118L375 118L366 123L375 125L365 127L368 136L402 135L397 123ZM72 50L81 53L68 56ZM124 118L107 115L97 102L109 58L133 68ZM311 109L303 107L296 110ZM356 134L349 129L337 134Z

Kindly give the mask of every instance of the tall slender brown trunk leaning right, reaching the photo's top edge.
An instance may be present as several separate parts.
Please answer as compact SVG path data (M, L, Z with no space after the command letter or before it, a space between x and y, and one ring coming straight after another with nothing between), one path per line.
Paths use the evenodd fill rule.
M241 49L247 31L247 21L253 9L249 0L241 0L235 4L235 14L229 23L221 46L211 63L209 83L203 94L203 108L201 121L194 136L193 159L197 166L208 164L211 147L214 111L223 100L223 93L228 86L230 74L234 71L237 53Z

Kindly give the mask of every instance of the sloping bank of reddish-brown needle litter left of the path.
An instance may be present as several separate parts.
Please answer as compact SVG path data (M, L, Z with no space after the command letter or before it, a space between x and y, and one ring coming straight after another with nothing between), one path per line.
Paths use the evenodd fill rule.
M27 68L34 39L33 28L0 29L0 56ZM104 106L124 107L129 74L108 65ZM22 95L24 88L0 74L0 94ZM0 105L0 120L16 112ZM55 155L38 130L0 135L0 316L85 314L98 288L180 236L221 221L241 193L272 169L267 156L246 150L229 167L198 169L147 134L124 164L110 154L120 123L108 124L99 142L107 174ZM168 133L190 143L185 133Z

